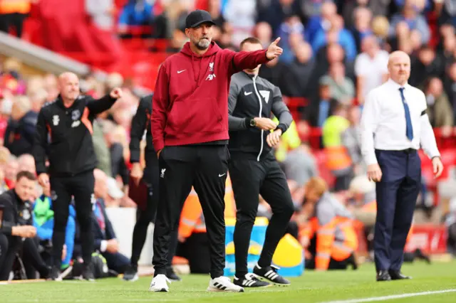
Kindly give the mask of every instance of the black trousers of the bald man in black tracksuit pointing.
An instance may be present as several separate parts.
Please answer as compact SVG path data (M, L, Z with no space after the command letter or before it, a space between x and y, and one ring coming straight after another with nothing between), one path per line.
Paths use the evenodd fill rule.
M54 211L54 228L52 235L53 265L61 267L63 243L65 243L68 206L74 196L76 218L81 228L81 244L83 260L89 265L92 259L92 205L95 202L93 186L95 178L93 171L87 171L76 176L51 176L51 198Z

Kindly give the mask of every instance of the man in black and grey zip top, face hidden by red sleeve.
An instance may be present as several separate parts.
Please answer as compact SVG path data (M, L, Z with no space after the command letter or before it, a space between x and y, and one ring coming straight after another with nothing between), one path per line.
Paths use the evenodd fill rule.
M262 47L257 38L247 38L240 48L254 51ZM271 266L272 255L294 212L285 174L271 148L279 143L281 134L288 129L293 117L282 100L279 87L259 78L260 66L234 74L229 87L228 148L232 157L229 176L237 207L234 284L242 287L290 284L277 273L276 267ZM279 125L269 118L271 112L279 119ZM252 275L247 270L247 253L257 217L259 194L269 203L273 215L266 230L261 256L254 267L255 275Z

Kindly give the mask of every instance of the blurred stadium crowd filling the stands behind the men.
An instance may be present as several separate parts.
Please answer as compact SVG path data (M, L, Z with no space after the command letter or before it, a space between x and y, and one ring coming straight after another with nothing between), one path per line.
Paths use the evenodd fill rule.
M15 8L9 1L0 1L1 31L8 31L8 26L17 26L19 19L23 21L27 5L32 1L12 2L22 3L23 6L18 11L19 6ZM420 87L425 93L432 127L440 129L442 137L455 134L455 1L123 2L123 6L116 6L118 1L90 0L86 1L86 10L97 26L109 31L117 28L118 36L123 39L129 38L130 26L151 26L153 38L169 40L169 53L179 51L187 41L182 24L185 23L187 11L195 8L210 12L217 23L214 41L222 48L238 50L239 42L248 36L256 36L266 47L277 36L281 37L284 54L279 60L262 66L259 75L277 85L284 96L302 98L296 108L290 106L294 111L295 122L281 137L281 144L274 152L289 180L296 208L287 233L306 248L306 259L311 260L316 250L324 249L331 255L331 260L343 261L332 268L346 268L349 264L356 267L354 256L359 246L358 230L362 230L361 240L368 243L371 240L375 223L375 184L366 178L358 124L367 93L388 78L388 53L403 50L410 55L410 85ZM16 27L16 31L21 36L19 28ZM2 192L14 188L16 174L19 172L30 171L36 174L31 156L36 119L41 107L58 96L56 75L26 76L21 70L22 63L15 58L5 58L0 65ZM81 76L81 92L95 98L103 97L113 87L123 88L123 98L115 102L110 110L100 114L93 123L93 144L99 162L98 169L95 170L95 198L99 203L96 203L93 216L94 230L98 237L94 251L104 257L110 270L110 273L103 272L103 259L100 257L101 270L97 277L123 273L129 265L128 258L118 252L119 245L105 208L135 208L138 203L130 198L128 192L131 168L129 135L131 120L142 96L137 94L135 83L118 73L111 73L105 82L97 80L92 74ZM308 142L311 128L321 129L318 149L325 153L326 161L323 164L316 159L315 147L311 147ZM144 164L143 155L141 161ZM427 181L423 179L420 200L425 200ZM226 211L226 215L235 216L229 179L227 185L225 201L229 211ZM313 239L318 225L311 220L313 206L316 201L326 197L327 193L338 200L343 210L341 213L346 213L347 218L351 219L348 228L341 227L344 235L341 244L350 250L348 255L338 250L338 245L333 244L333 238L324 239L324 248L315 247ZM259 199L258 216L269 218L271 209L261 197ZM52 237L49 235L52 233L52 196L36 184L31 200L35 201L32 216L37 230L38 251L41 261L46 264L52 245ZM191 195L186 203L195 203L195 195ZM422 204L425 205L424 202L418 203ZM76 276L78 262L81 263L81 248L78 245L78 223L74 213L72 218L73 220L68 220L62 270L72 267L72 275ZM346 226L345 221L341 222L336 216L333 220L338 226ZM450 201L441 220L448 228L447 250L456 255L456 196ZM188 222L193 224L189 225ZM205 232L204 226L197 224L201 222L204 223L204 220L199 208L184 208L179 235L181 246L192 234ZM106 244L101 245L101 241ZM368 246L368 250L371 249ZM408 260L413 260L415 256L426 258L420 251L410 251ZM187 258L190 263L201 262L198 257L196 260ZM14 278L36 277L36 272L31 267L43 277L46 270L41 265L24 262L26 273L16 270ZM195 272L207 272L207 266L209 265L196 266ZM321 264L314 264L314 267L320 266ZM327 268L328 265L321 269ZM0 280L1 278L0 270Z

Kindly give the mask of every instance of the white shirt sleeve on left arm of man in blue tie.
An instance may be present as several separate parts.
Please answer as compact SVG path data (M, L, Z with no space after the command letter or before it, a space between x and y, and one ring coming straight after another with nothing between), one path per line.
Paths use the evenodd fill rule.
M378 126L380 105L375 97L375 91L369 92L366 102L364 102L363 115L361 115L361 154L367 165L377 163L373 137Z

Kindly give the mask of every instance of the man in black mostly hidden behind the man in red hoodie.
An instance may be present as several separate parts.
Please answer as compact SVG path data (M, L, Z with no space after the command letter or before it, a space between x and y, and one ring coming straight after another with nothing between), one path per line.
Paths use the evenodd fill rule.
M158 159L155 149L152 144L152 132L150 129L150 114L152 113L152 95L147 95L140 99L138 110L131 122L130 129L130 163L133 165L131 169L131 179L135 182L135 186L147 186L145 192L147 197L144 196L141 200L145 200L145 205L142 201L135 201L138 203L137 220L135 229L133 230L133 243L131 248L131 268L129 268L123 275L124 280L138 280L138 260L140 259L142 247L145 243L147 236L147 228L150 222L155 221L155 214L157 213L158 206ZM144 170L140 164L140 142L145 131L145 168ZM132 183L130 183L132 184ZM133 185L133 184L132 184ZM130 187L130 190L132 188ZM141 191L142 192L142 191ZM138 200L138 199L137 199ZM166 277L171 281L179 281L180 277L177 276L172 270L172 257L177 246L177 230L171 235L170 252L167 260Z

